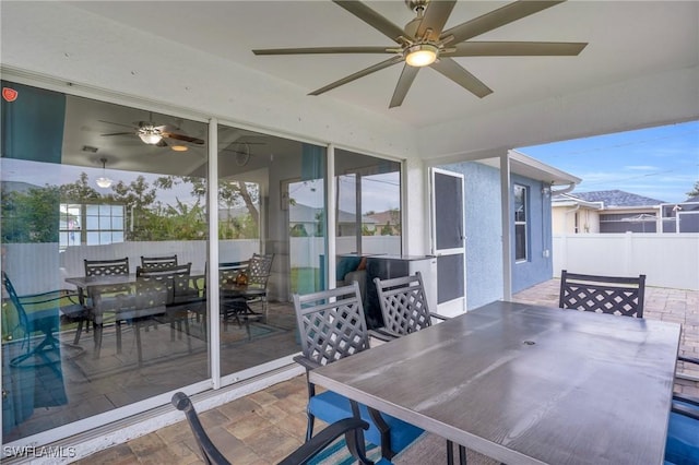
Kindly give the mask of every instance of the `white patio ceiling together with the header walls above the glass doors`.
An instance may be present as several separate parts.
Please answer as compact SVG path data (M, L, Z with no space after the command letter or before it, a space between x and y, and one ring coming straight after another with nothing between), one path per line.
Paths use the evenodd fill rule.
M64 16L66 10L58 7L46 13L51 19L60 13L57 24L32 17L38 13L32 3L3 2L3 28L10 31L3 32L3 39L5 34L16 36L24 47L5 47L3 40L8 57L3 64L39 72L46 68L57 76L94 81L106 88L188 108L200 104L213 114L233 114L235 105L240 118L252 124L262 122L350 146L363 132L365 141L357 147L371 141L371 150L378 153L418 154L433 163L499 156L518 146L699 118L697 1L569 0L474 40L589 43L580 56L458 58L494 93L478 98L425 69L402 106L391 109L389 100L401 64L320 96L306 96L384 56L261 57L251 52L276 47L392 45L331 1L48 2L42 9L60 3L69 10ZM366 3L400 27L414 17L400 0ZM459 1L446 27L508 3ZM71 12L74 24L67 24ZM32 36L24 36L15 26L34 21L36 25L26 26ZM58 40L56 31L64 37ZM103 31L104 36L94 35ZM118 39L109 35L116 31ZM35 57L29 58L25 49ZM226 62L229 70L240 71L226 74L225 80L221 70L203 73L202 63L214 60L216 65ZM145 68L147 62L152 69ZM228 87L216 79L226 81ZM225 88L227 98L197 103L197 94L215 96L220 88ZM270 118L272 100L281 102L284 111L293 115ZM259 103L257 107L253 102ZM318 117L332 115L333 108L353 116L333 116L328 122ZM311 115L317 109L318 115ZM316 120L307 122L311 118ZM370 129L350 127L354 121Z

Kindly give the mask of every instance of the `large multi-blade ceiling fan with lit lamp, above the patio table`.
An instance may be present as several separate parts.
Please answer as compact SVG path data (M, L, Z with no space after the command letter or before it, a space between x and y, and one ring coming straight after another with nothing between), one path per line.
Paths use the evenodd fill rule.
M565 1L565 0L562 0ZM508 56L577 56L587 43L558 41L473 41L473 37L555 7L562 1L519 0L493 10L447 31L443 27L457 0L405 0L416 17L401 28L359 1L333 0L359 20L369 24L398 44L398 47L315 47L272 48L252 50L254 55L304 55L304 53L389 53L388 60L357 71L346 78L325 85L309 95L320 95L359 78L398 63L404 63L389 108L403 103L420 68L430 67L477 97L493 91L476 76L462 68L453 58L459 57L508 57Z

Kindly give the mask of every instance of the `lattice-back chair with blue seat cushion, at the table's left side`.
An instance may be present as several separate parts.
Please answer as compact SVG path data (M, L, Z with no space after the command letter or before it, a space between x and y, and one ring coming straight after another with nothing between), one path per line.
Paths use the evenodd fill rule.
M332 424L342 418L360 416L369 422L366 439L381 446L381 456L390 463L400 451L415 441L423 430L398 418L381 414L332 391L316 393L310 370L332 363L369 348L369 332L357 283L335 289L299 296L294 294L294 308L301 339L301 356L294 358L306 368L308 384L308 424L306 441L313 436L319 418Z

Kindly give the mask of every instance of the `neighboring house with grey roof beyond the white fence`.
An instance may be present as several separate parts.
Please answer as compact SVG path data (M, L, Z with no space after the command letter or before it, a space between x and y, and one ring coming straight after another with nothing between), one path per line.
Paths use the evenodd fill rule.
M662 200L620 190L561 193L552 201L554 234L656 233Z

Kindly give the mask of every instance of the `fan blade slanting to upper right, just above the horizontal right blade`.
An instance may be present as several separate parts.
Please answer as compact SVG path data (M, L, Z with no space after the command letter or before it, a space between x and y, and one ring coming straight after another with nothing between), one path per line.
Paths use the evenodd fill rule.
M441 37L453 36L453 40L449 45L454 45L467 40L472 37L479 36L513 21L521 20L531 14L538 13L562 3L562 1L533 1L533 0L519 0L513 3L506 4L502 8L494 10L489 13L481 15L476 19L459 24L451 27L441 34Z

